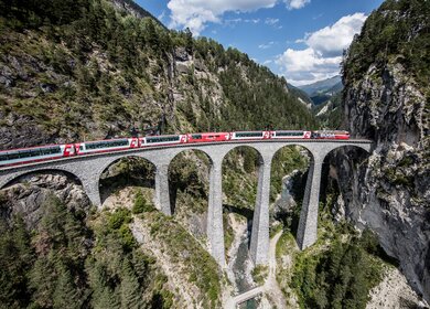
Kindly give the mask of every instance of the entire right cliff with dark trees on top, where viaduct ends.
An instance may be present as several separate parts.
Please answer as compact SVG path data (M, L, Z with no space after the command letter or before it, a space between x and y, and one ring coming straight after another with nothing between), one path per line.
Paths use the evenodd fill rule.
M336 156L346 216L377 233L380 245L427 300L430 75L420 67L430 63L428 11L429 1L387 1L354 40L344 62L344 118L353 137L375 143L361 166L350 162L353 151Z

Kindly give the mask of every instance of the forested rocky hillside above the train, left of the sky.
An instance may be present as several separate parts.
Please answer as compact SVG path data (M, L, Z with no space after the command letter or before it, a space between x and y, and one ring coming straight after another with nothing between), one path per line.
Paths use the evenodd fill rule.
M283 78L237 50L109 1L51 2L0 1L1 149L128 136L160 119L164 132L315 127Z

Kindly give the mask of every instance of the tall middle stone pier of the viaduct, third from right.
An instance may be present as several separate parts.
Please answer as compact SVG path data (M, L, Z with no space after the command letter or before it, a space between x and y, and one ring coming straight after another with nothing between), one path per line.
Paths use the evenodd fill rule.
M211 255L221 267L226 266L223 226L223 157L212 157L209 203L207 210L207 241Z

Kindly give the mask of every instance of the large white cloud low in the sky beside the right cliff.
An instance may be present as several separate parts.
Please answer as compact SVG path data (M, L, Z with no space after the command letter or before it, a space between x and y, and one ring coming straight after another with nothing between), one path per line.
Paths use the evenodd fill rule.
M355 13L341 18L333 25L307 33L304 39L295 41L307 44L307 49L288 49L277 57L281 74L298 86L338 74L342 51L348 47L365 20L365 14Z

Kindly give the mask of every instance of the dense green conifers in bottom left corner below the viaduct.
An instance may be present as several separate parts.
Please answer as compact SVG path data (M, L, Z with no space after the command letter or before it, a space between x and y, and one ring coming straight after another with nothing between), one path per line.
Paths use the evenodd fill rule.
M36 230L0 222L0 302L4 308L170 308L172 295L128 228L130 212L95 217L54 195ZM72 301L73 300L73 301Z

